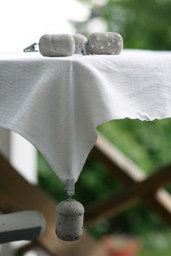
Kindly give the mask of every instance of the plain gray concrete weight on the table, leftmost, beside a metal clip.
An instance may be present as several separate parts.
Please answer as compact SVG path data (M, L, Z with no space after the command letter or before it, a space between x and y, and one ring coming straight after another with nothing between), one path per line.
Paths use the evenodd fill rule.
M75 40L69 34L46 34L39 40L39 51L46 57L71 56L75 51Z

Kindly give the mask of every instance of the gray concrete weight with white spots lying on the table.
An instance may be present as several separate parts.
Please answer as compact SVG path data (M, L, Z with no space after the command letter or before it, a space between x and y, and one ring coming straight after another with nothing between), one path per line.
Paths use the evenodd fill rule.
M88 38L91 54L120 54L123 48L122 36L118 33L92 33Z

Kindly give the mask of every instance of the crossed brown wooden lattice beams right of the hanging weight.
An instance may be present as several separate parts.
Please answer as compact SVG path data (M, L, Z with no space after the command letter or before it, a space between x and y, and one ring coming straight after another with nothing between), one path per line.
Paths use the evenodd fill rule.
M114 194L113 197L87 210L87 223L91 223L102 215L110 217L117 214L141 199L167 225L171 226L171 197L166 190L160 189L171 183L171 166L154 171L153 175L147 178L143 170L100 134L91 157L103 162L107 170L124 183L126 188L120 194Z

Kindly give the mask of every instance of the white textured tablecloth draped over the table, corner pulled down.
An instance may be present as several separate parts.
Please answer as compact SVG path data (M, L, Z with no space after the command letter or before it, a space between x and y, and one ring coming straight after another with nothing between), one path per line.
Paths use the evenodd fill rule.
M0 126L20 133L57 176L78 179L96 126L171 117L171 54L0 57Z

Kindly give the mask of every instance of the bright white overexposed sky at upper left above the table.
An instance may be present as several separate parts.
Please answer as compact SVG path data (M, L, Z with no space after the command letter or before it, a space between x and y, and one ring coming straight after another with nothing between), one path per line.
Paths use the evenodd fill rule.
M75 0L1 0L0 51L22 51L45 33L74 33L67 20L89 15L88 7Z

